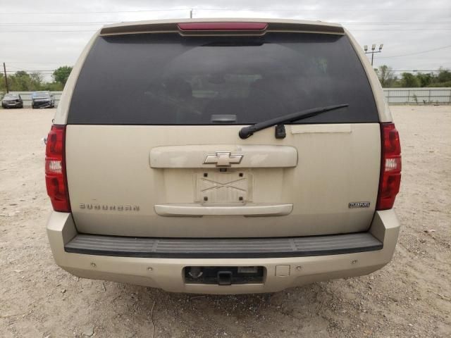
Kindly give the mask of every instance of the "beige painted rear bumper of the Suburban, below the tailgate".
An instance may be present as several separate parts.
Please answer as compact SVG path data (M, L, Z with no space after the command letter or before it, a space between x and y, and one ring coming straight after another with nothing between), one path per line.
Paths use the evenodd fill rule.
M169 292L201 294L278 292L288 287L321 280L366 275L382 268L383 265L391 260L399 230L400 224L393 210L378 211L373 219L369 233L366 234L366 239L362 237L362 241L366 242L369 240L369 245L361 245L359 249L355 244L350 244L348 248L340 247L341 253L339 251L314 252L311 250L302 251L302 248L307 246L301 245L297 248L298 252L292 253L293 251L290 251L291 253L288 254L287 252L280 253L283 250L280 251L279 249L280 247L283 248L283 245L278 244L279 249L278 251L276 250L277 252L274 251L263 256L256 256L252 252L247 254L246 258L240 258L243 257L242 252L235 254L235 256L221 256L223 253L230 252L229 248L222 251L216 250L216 253L220 253L216 255L218 258L211 258L215 256L211 252L210 254L202 252L193 254L192 249L188 250L188 254L185 256L183 254L180 255L179 252L178 256L171 257L159 252L157 245L153 242L153 249L149 249L148 246L144 245L141 246L144 253L142 251L133 254L123 253L123 256L118 256L117 254L116 256L111 256L111 252L108 253L101 249L104 245L98 242L97 245L94 245L95 243L88 244L91 251L88 251L86 246L85 251L82 251L80 247L78 247L78 250L76 246L70 245L71 243L74 244L73 240L76 237L82 239L75 229L70 213L53 212L47 224L47 234L56 263L73 275L158 287ZM369 236L370 234L371 236ZM372 243L373 245L371 245L370 237L375 239ZM245 241L245 239L243 240ZM82 242L78 241L78 244ZM121 246L120 243L115 245ZM335 243L333 245L335 245L336 249L338 244ZM247 244L247 246L249 245ZM296 247L293 250L295 251ZM355 252L356 250L359 251ZM130 253L130 250L123 252ZM173 251L169 250L168 252L171 253ZM187 284L183 277L183 269L186 266L256 265L264 266L266 269L264 282L261 284L232 284L228 286Z

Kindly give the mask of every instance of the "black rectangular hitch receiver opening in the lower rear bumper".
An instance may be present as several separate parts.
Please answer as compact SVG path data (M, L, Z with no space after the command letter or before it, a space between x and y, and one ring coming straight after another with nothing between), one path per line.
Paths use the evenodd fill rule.
M187 266L186 284L263 284L263 266Z

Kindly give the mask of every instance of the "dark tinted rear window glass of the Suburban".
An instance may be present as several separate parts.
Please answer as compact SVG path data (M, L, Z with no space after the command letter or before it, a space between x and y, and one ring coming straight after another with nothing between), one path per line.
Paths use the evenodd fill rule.
M347 108L299 123L378 122L362 63L341 35L98 37L70 103L69 124L252 124L304 109ZM231 116L230 116L231 115Z

